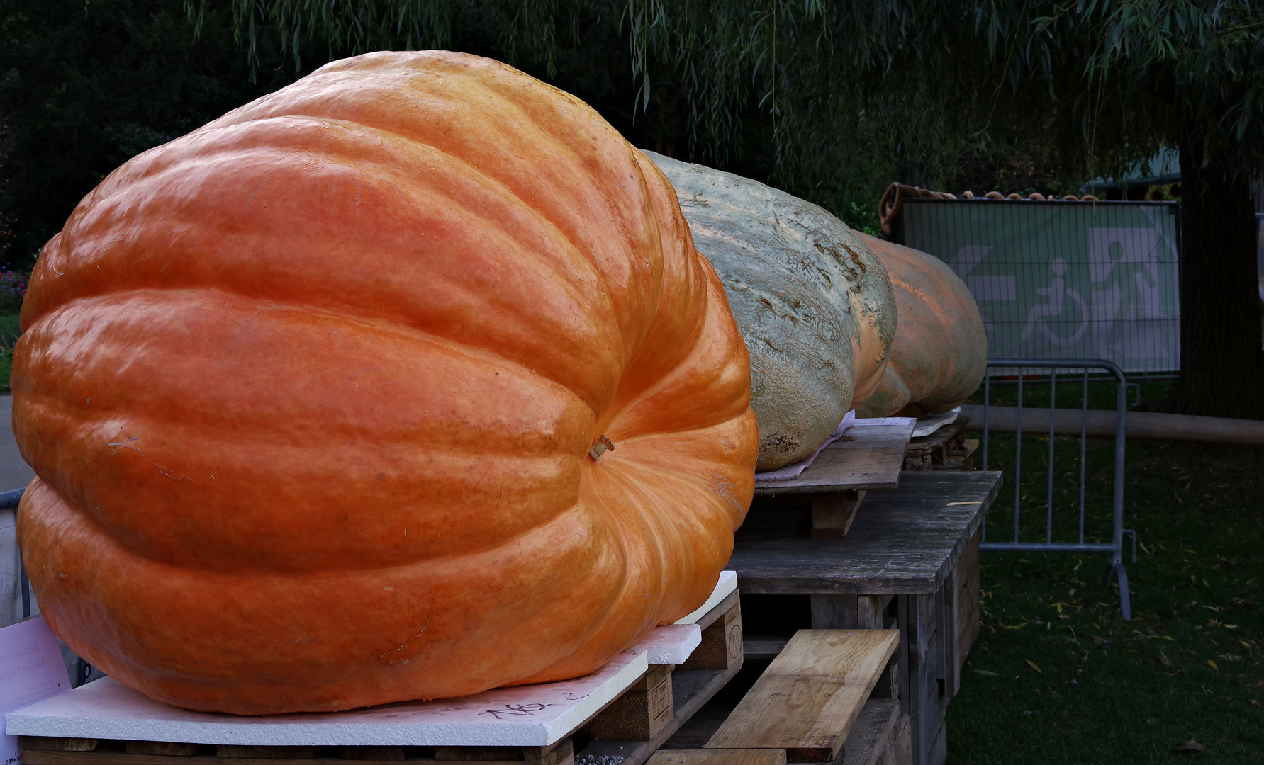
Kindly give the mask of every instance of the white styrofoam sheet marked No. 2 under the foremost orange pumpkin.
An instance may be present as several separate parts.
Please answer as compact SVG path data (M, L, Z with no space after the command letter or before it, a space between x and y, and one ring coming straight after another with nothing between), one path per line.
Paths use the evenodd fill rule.
M6 716L10 736L59 736L245 746L547 746L568 736L648 669L623 651L575 680L497 688L432 702L329 713L238 717L153 701L112 678Z

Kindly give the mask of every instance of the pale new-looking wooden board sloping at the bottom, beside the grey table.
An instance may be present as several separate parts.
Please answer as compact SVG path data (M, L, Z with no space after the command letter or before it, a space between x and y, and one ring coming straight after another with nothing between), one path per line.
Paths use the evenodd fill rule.
M799 630L705 749L833 762L897 641L894 630Z

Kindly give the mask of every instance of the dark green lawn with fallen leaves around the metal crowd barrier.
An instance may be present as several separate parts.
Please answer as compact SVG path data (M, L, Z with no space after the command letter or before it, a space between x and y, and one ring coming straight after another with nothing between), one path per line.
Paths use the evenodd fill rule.
M1025 388L1029 405L1049 400L1047 386ZM1098 388L1090 400L1106 408L1112 391ZM1169 394L1167 382L1143 386L1146 401ZM994 403L1012 404L1012 386L992 390ZM1064 401L1059 390L1058 399L1078 405L1078 394ZM1020 537L1040 540L1048 437L1023 441ZM1086 540L1110 538L1112 444L1087 444ZM994 436L994 467L1012 465L1014 447L1012 436ZM1057 437L1054 453L1054 538L1073 542L1078 439ZM1256 460L1226 447L1129 442L1133 621L1120 617L1114 579L1098 587L1103 557L983 553L982 631L948 712L949 762L1264 762L1264 470ZM1012 507L1007 472L991 539L1012 538ZM1178 751L1191 740L1206 751Z

